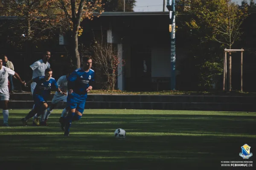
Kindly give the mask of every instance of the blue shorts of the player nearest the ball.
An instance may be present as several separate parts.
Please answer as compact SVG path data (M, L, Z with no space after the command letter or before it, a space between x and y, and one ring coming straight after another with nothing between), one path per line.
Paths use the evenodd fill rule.
M84 112L84 105L86 102L87 95L78 95L75 93L68 94L67 96L67 108L76 109L80 113Z

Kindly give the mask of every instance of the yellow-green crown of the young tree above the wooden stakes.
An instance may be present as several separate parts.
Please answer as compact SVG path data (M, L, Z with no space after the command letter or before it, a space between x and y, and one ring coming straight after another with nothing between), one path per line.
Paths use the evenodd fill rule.
M186 0L185 0L186 1ZM200 26L209 29L205 37L221 43L221 46L231 46L239 40L243 20L248 16L248 7L239 8L230 0L195 0L190 3L192 17L188 26L200 29ZM201 25L204 23L204 25ZM199 26L200 25L200 26Z

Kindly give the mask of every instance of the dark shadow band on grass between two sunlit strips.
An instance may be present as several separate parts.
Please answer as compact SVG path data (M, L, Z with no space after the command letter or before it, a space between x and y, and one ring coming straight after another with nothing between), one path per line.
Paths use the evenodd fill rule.
M52 114L48 127L22 126L19 113L12 113L9 124L15 128L3 128L8 132L60 132L58 123L59 114ZM1 121L1 120L0 120ZM117 128L123 128L128 132L143 133L207 133L207 134L248 134L256 135L254 116L227 116L227 115L180 115L180 114L87 114L80 121L73 122L71 131L82 132L108 132L113 133Z

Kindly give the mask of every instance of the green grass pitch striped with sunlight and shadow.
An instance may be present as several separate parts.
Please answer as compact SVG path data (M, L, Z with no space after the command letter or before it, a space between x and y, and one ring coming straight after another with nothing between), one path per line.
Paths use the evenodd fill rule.
M85 110L64 137L61 110L48 127L32 127L31 120L22 127L28 112L10 110L12 127L0 127L1 170L218 170L221 161L244 161L244 144L256 153L256 113ZM125 139L114 138L117 128L126 130Z

